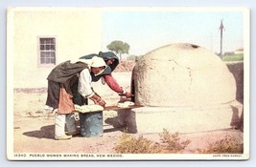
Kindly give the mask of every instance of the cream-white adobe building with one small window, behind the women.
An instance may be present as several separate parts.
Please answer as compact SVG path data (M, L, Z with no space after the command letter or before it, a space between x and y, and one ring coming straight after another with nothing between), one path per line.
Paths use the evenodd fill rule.
M102 50L102 11L10 8L7 33L7 85L44 88L59 63Z

